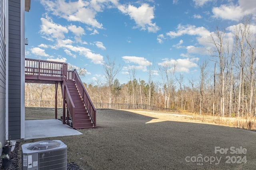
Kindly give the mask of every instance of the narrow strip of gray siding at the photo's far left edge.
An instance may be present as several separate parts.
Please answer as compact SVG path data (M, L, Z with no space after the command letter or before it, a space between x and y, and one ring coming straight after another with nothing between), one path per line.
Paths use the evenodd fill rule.
M0 142L4 143L6 115L6 46L4 43L3 0L0 0ZM2 148L0 148L2 153Z

